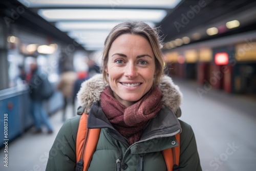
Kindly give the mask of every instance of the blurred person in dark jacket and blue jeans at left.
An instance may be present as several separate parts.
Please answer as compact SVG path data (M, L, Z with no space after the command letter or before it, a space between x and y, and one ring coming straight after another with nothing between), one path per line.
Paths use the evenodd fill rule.
M27 74L26 80L28 82L29 95L31 97L32 116L36 126L36 131L33 133L41 133L41 123L44 123L48 129L48 134L52 134L53 127L43 102L53 94L53 88L49 86L47 74L42 73L38 69L36 60L32 61L30 64L30 72ZM50 89L52 92L48 93ZM46 98L46 94L50 94L49 97Z

